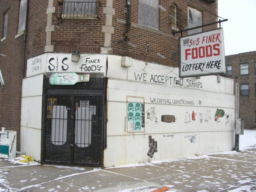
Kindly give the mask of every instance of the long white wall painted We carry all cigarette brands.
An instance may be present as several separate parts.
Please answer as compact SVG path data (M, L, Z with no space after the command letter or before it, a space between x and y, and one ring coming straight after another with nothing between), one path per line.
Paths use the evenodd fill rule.
M169 79L179 79L175 75L176 70L158 64L144 63L143 66L143 62L135 60L132 61L132 67L124 68L121 67L120 57L108 56L105 167L232 150L233 80L220 77L221 82L218 83L216 76L204 76L198 80L183 79L183 82L187 82L187 79L194 83L200 82L202 86L199 87L187 87L185 83L181 86L150 82L150 78L135 80L136 74L139 73L143 73L144 77L161 75L161 78L164 76L165 79L170 71L174 73L168 74ZM181 100L181 104L174 104L174 100ZM187 101L192 102L186 103ZM128 132L128 102L144 102L145 127L142 132ZM151 108L154 109L155 116L148 119L146 114ZM223 110L225 115L215 121L217 109ZM210 114L208 121L205 121L207 110ZM195 120L191 119L193 111ZM187 112L190 114L190 122L185 122ZM176 120L170 123L162 122L162 115L174 115ZM227 115L229 118L226 118ZM154 153L153 158L147 155L148 136L158 142L158 151Z

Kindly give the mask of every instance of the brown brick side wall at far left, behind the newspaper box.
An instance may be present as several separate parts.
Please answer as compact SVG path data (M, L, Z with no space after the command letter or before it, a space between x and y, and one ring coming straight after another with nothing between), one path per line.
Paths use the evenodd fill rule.
M8 28L6 39L0 42L0 69L5 86L0 88L0 126L6 130L17 131L17 150L20 149L20 106L21 88L24 69L23 35L15 38L18 31L19 1L1 0L0 2L0 26L3 26L4 15L8 13ZM0 29L1 38L2 27Z

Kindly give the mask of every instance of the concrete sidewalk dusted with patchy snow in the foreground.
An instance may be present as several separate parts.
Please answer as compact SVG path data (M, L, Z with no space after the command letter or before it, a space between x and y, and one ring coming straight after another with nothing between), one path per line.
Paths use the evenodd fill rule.
M21 165L0 160L0 192L256 191L256 146L242 152L124 168Z

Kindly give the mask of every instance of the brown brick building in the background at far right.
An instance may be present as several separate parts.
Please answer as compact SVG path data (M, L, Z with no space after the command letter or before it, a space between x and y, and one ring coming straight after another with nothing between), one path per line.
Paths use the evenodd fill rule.
M244 128L256 129L256 51L226 56L225 76L240 85L239 117Z

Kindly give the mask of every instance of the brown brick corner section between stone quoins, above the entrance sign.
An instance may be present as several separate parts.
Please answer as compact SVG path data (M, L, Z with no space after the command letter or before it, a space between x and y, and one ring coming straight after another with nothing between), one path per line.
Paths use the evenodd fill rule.
M97 16L93 19L71 19L61 18L62 4L54 0L56 13L53 14L52 24L55 30L52 32L52 45L54 52L73 52L78 49L83 53L100 53L100 48L104 45L104 33L102 26L105 25L103 7L105 0L100 0L97 4Z

